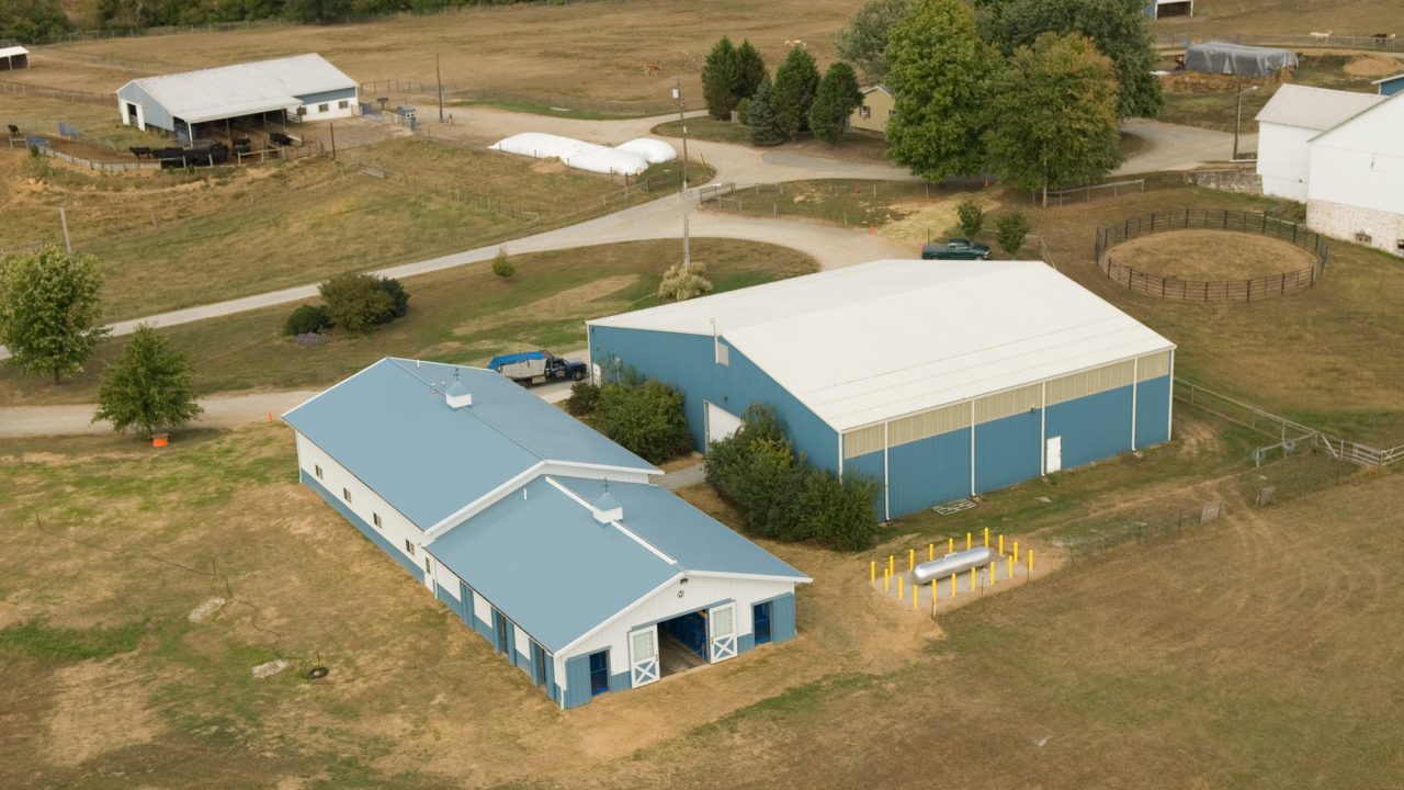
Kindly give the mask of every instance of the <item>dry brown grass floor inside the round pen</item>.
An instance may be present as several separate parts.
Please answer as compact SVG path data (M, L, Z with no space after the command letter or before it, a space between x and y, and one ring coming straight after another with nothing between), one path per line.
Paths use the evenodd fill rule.
M1178 280L1252 280L1309 268L1316 257L1289 242L1228 231L1174 231L1116 245L1112 260Z

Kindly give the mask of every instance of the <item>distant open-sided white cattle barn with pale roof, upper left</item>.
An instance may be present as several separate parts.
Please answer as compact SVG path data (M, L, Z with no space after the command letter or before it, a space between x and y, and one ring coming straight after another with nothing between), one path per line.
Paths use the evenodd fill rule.
M117 104L129 127L194 141L202 124L225 129L243 118L279 124L350 118L358 89L322 55L309 53L140 77L117 90Z

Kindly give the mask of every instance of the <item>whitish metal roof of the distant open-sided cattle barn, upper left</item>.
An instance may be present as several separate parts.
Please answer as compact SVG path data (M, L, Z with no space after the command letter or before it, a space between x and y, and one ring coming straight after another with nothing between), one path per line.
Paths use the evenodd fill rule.
M299 96L357 87L355 80L316 53L142 77L126 84L139 86L171 115L195 124L298 107Z

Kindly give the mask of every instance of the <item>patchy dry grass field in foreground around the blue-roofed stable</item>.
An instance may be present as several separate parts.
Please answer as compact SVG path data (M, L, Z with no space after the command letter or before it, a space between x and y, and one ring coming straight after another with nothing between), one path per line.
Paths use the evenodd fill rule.
M901 765L1050 790L1390 784L1404 768L1404 582L1387 571L1404 555L1404 478L1332 486L1302 470L1330 465L1313 457L1257 471L1233 432L1193 413L1177 430L1143 460L1061 475L1042 514L1016 486L955 529L1012 520L1052 557L1090 514L1139 514L1130 498L1161 512L1221 499L1210 526L935 624L868 589L868 555L767 545L816 579L795 642L570 713L298 486L282 426L161 453L0 443L0 777L855 787ZM1258 474L1316 482L1254 509ZM727 517L705 488L684 495ZM872 557L946 529L901 523ZM192 623L213 596L229 603ZM272 658L291 668L254 680ZM331 675L312 685L300 675L317 661Z

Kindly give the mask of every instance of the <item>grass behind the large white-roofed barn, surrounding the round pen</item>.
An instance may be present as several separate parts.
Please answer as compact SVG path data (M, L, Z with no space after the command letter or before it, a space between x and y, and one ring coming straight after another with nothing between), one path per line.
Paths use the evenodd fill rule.
M955 205L966 194L980 200L994 218L1018 208L1029 215L1032 232L1043 239L1060 271L1174 340L1175 370L1205 387L1259 408L1341 432L1358 441L1382 446L1404 443L1404 358L1379 349L1404 344L1404 316L1394 294L1404 288L1398 259L1345 242L1330 242L1331 261L1316 288L1264 302L1177 302L1141 297L1116 287L1092 264L1095 229L1151 211L1228 208L1258 211L1279 205L1264 198L1231 195L1191 187L1099 198L1033 209L1025 195L1002 190L931 191L921 186L862 181L802 181L785 193L737 193L743 211L757 215L806 216L849 225L876 224L879 232L920 243L955 229ZM726 208L734 211L734 204ZM858 218L858 219L855 219ZM988 233L980 236L990 242ZM1193 236L1153 236L1160 254L1179 254ZM1257 249L1251 236L1234 236L1223 252ZM1021 257L1036 257L1026 247ZM1237 271L1237 266L1230 266ZM1205 276L1217 271L1200 267Z

